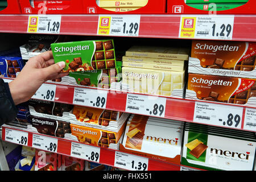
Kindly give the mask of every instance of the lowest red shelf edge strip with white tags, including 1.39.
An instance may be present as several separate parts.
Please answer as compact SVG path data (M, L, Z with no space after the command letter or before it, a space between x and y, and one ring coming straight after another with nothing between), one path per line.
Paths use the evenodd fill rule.
M11 135L11 133L13 135ZM34 145L34 142L35 142L35 141L33 141L34 135L36 135L37 138L41 136L42 137L41 140L42 140L43 143L47 143L47 140L55 139L55 140L53 140L53 142L51 140L51 142L53 144L54 144L54 142L56 143L56 148L49 149L49 147L48 147L47 149L43 149L43 150L55 152L55 153L58 153L58 154L73 156L75 158L90 160L92 162L106 164L108 166L118 167L116 162L115 162L116 161L115 155L116 155L116 152L118 152L118 154L120 154L120 152L121 152L121 154L125 154L126 156L129 156L129 158L136 159L136 160L139 160L139 161L143 161L144 163L146 163L148 171L163 171L163 170L166 170L166 171L180 171L180 166L179 165L168 163L168 162L163 162L161 160L145 158L145 157L142 157L142 156L139 156L139 155L129 154L129 153L123 152L123 151L92 146L92 145L89 145L89 144L74 142L74 141L71 141L71 140L59 139L59 138L56 138L56 137L50 137L48 135L43 135L43 134L38 134L38 133L30 133L30 132L22 131L22 130L16 130L16 129L9 128L9 127L6 127L6 126L2 127L2 140L5 140L5 141L11 142L11 143L16 143L16 144L22 144L24 146L30 146L30 147L34 147L34 148L38 148L38 149L42 150L42 147L39 147L39 144L37 146ZM20 139L21 137L23 137L23 142L22 143L20 143L21 142L21 139ZM25 138L26 138L26 140L25 140ZM26 143L24 141L26 141ZM72 145L74 143L76 145L80 144L80 146L82 146L82 148L83 148L83 152L85 152L86 155L84 154L84 155L74 156L73 152L72 152ZM88 152L88 153L86 153L86 152ZM92 155L90 155L90 152L94 152L94 154L95 154L94 156L96 156L96 153L98 153L98 157L97 158L96 157L95 158L88 158L88 156L92 157ZM127 158L126 158L126 162L129 162L129 161L127 161ZM138 161L136 161L136 162L138 162ZM130 167L128 167L126 165L124 165L121 168L131 169ZM134 170L135 169L136 169L136 167L134 168ZM202 170L202 169L197 169L197 170Z

